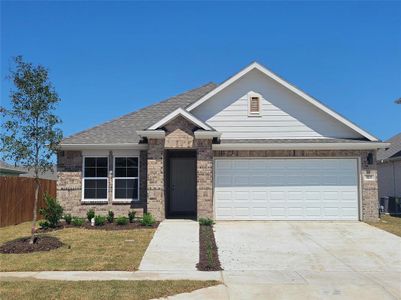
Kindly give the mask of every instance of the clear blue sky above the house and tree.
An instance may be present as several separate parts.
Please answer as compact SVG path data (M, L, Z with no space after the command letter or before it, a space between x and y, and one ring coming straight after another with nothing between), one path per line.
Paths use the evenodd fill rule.
M401 131L401 2L1 2L11 57L50 69L68 136L258 61L381 139Z

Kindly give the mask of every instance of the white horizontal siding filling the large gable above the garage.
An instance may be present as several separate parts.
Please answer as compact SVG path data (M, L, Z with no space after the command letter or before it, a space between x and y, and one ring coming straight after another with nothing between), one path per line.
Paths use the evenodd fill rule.
M249 117L249 94L260 99L260 117ZM251 71L191 111L222 139L360 138L258 70Z

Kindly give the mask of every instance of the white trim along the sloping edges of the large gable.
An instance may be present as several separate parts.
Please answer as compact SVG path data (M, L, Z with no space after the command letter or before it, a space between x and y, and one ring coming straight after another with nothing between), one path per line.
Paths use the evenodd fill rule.
M250 64L248 67L246 67L245 69L241 70L239 73L237 73L236 75L230 77L228 80L226 80L225 82L223 82L222 84L220 84L219 86L217 86L215 89L213 89L212 91L210 91L209 93L207 93L206 95L204 95L202 98L200 98L198 101L196 101L195 103L191 104L187 110L188 111L192 111L193 109L195 109L196 107L198 107L199 105L201 105L202 103L206 102L207 100L209 100L210 98L212 98L214 95L216 95L217 93L219 93L220 91L222 91L223 89L225 89L226 87L228 87L229 85L231 85L232 83L234 83L235 81L239 80L240 78L242 78L244 75L246 75L247 73L249 73L252 70L259 70L260 72L262 72L263 74L265 74L267 77L273 79L274 81L278 82L279 84L281 84L282 86L286 87L288 90L292 91L293 93L295 93L296 95L300 96L301 98L303 98L304 100L306 100L307 102L309 102L310 104L314 105L315 107L319 108L320 110L322 110L323 112L327 113L328 115L332 116L333 118L335 118L337 121L343 123L344 125L348 126L349 128L351 128L352 130L358 132L359 134L361 134L362 136L366 137L367 139L369 139L370 141L378 141L378 139L376 137L374 137L373 135L371 135L370 133L368 133L367 131L363 130L362 128L358 127L357 125L355 125L354 123L352 123L351 121L349 121L348 119L346 119L345 117L341 116L340 114L336 113L335 111L331 110L330 108L328 108L327 106L325 106L323 103L321 103L320 101L314 99L313 97L309 96L308 94L306 94L305 92L301 91L300 89L298 89L297 87L295 87L294 85L290 84L289 82L285 81L284 79L280 78L279 76L277 76L276 74L274 74L273 72L271 72L270 70L268 70L267 68L265 68L264 66L258 64L257 62L253 62L252 64Z

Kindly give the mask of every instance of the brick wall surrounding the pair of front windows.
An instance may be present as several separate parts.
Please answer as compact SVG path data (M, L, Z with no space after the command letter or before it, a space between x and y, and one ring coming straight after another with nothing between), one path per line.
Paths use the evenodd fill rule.
M109 156L109 169L112 170L112 156ZM140 151L139 157L139 202L112 203L113 178L109 175L109 199L107 203L81 203L82 198L82 153L81 151L59 151L57 155L57 199L64 208L64 213L73 216L86 216L93 208L96 214L114 211L116 216L127 215L135 210L141 216L146 210L147 199L147 151Z

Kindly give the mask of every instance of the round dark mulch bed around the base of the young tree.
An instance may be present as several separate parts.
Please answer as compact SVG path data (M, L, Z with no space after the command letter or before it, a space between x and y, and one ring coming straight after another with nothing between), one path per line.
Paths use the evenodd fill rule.
M35 243L29 244L31 237L23 237L9 241L0 246L0 253L19 254L37 251L50 251L60 248L64 244L54 236L38 235L35 237Z

